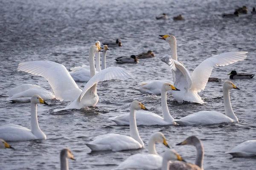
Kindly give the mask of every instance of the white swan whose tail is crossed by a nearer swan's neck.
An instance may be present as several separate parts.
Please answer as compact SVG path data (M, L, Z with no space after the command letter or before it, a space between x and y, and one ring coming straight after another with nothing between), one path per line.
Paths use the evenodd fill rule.
M161 105L162 105L162 114L163 117L158 116L155 113L148 112L148 111L137 111L136 113L136 122L137 125L175 125L173 117L169 113L167 101L166 101L166 93L167 91L176 90L179 91L179 89L175 88L173 85L169 83L163 84L161 88ZM124 114L121 116L116 116L113 118L110 118L113 122L115 122L117 125L129 125L129 115Z

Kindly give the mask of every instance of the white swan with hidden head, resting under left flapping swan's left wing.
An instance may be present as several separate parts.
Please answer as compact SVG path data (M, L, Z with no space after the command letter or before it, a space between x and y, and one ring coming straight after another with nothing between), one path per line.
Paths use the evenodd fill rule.
M8 91L7 94L11 96L9 96L6 100L13 102L30 102L31 97L35 94L41 96L45 101L55 98L52 92L47 91L38 85L31 84L19 85L16 88Z

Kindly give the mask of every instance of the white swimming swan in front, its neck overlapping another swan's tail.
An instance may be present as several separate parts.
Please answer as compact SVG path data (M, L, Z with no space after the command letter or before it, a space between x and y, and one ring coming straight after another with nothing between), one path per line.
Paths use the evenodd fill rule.
M130 108L130 136L119 135L114 133L109 133L106 135L97 136L92 142L87 143L87 147L90 147L92 151L100 151L100 150L113 150L113 151L121 151L121 150L131 150L131 149L139 149L144 147L144 143L140 138L140 134L137 129L136 119L135 119L135 110L145 108L141 102L133 101L131 102Z

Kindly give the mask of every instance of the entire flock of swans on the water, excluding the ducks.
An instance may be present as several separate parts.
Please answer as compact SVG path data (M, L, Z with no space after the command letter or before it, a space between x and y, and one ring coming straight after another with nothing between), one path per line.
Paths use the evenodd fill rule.
M167 105L167 93L172 94L177 102L205 103L198 92L204 90L208 78L214 66L225 66L241 61L247 57L246 51L227 52L210 57L195 68L192 75L182 62L177 61L176 38L173 35L160 35L160 39L166 40L170 44L172 57L165 56L161 60L172 69L173 81L170 80L150 80L140 82L134 89L144 94L161 94L161 106L163 116L152 113L139 101L131 102L130 113L110 118L117 125L129 125L130 136L122 134L108 133L97 136L93 141L86 143L92 151L112 150L134 150L144 147L144 142L140 138L137 125L212 125L220 123L238 122L238 118L233 112L230 102L230 90L238 89L230 81L223 84L224 109L225 114L218 111L199 111L192 113L181 119L174 119L169 112ZM108 45L103 45L99 41L89 48L89 66L82 65L71 68L67 71L64 65L52 61L29 61L18 65L18 71L25 71L30 74L44 77L52 88L52 92L46 91L38 85L24 84L8 92L11 97L8 100L31 103L30 129L20 125L3 125L0 127L0 148L13 148L6 141L27 141L34 139L47 139L47 136L40 129L37 119L37 105L46 104L45 100L56 98L60 101L69 101L65 108L58 108L54 111L67 109L81 109L95 106L99 101L97 95L97 83L120 79L132 78L133 75L120 67L106 68L105 57ZM103 52L102 68L100 66L100 52ZM94 57L96 56L96 63ZM96 65L96 68L95 68ZM87 82L83 89L80 89L75 80ZM144 111L136 111L144 110ZM189 136L177 145L193 145L197 154L195 164L186 163L181 156L172 149L167 149L163 156L157 153L155 143L162 143L169 148L169 144L163 133L156 132L148 139L148 153L135 154L122 163L116 169L146 169L153 170L203 170L204 147L200 139L196 136ZM248 140L231 151L227 152L232 156L256 156L256 140ZM60 153L61 170L68 169L67 159L74 159L69 149L63 149Z

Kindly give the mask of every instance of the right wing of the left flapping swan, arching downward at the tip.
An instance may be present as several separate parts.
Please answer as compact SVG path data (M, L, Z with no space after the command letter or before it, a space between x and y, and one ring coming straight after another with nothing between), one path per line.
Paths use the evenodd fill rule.
M79 101L81 102L81 99L83 98L84 94L91 88L93 85L95 85L98 82L103 82L106 80L111 80L111 79L128 79L133 77L133 74L130 72L126 71L124 68L120 67L110 67L106 68L99 73L95 74L84 86L83 92L80 95Z

